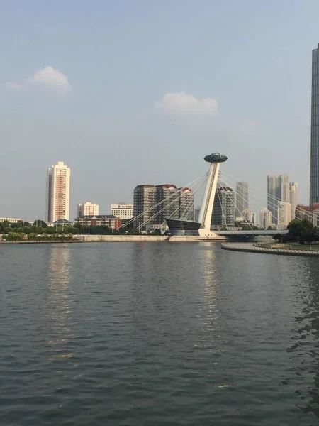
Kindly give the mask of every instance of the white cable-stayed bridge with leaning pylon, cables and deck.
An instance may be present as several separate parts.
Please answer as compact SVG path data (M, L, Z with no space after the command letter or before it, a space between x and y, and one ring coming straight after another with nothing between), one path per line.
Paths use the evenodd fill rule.
M155 205L152 205L150 209L145 210L141 214L130 219L124 226L128 226L128 224L138 224L138 230L142 231L145 229L148 223L154 222L156 217L164 217L164 222L167 222L169 227L169 232L174 236L198 236L202 239L218 239L220 237L233 237L233 236L245 236L245 237L254 237L254 236L274 236L275 234L286 234L288 231L286 229L274 229L274 226L262 226L259 224L259 228L254 226L252 221L243 218L242 228L235 228L234 222L236 217L242 217L242 213L244 211L245 205L248 205L248 194L241 194L240 200L242 202L242 208L238 207L237 202L235 203L235 197L230 194L233 193L232 187L236 187L237 185L232 182L233 178L229 175L220 171L220 164L224 163L228 158L225 155L220 155L219 153L214 153L211 155L206 155L204 160L210 163L208 173L204 173L199 176L195 180L189 182L185 187L182 187L181 190L190 189L194 193L198 191L203 185L205 185L205 191L203 195L203 201L201 203L201 210L199 212L198 221L188 220L189 209L193 209L193 205L186 204L183 207L183 203L187 202L187 200L182 201L182 191L173 192L168 197L164 198ZM235 180L236 182L237 180ZM224 211L223 203L220 201L220 189L223 190L223 196L228 197L226 200L228 201L228 208L232 206L231 214L230 212ZM233 193L234 195L234 193ZM216 202L216 197L218 200L218 205L221 207L220 219L222 229L212 229L212 214L214 202ZM238 197L238 194L237 194ZM236 197L236 199L237 199ZM252 198L256 200L252 200ZM172 212L172 206L177 205L177 201L179 201L178 207L174 209ZM278 202L281 200L274 195L271 197L267 197L269 208L277 209L278 211ZM245 205L244 205L245 204ZM259 212L260 207L263 205L263 202L260 203L260 199L254 195L254 192L250 191L250 200L249 204L253 209L257 209L255 211ZM173 207L173 208L174 208ZM298 209L298 207L297 207ZM183 211L180 217L177 217L177 211ZM169 212L169 214L165 214L165 212ZM272 214L270 210L267 210L269 214ZM293 212L294 213L294 212ZM307 212L303 210L303 215L307 216ZM228 220L229 215L230 220ZM308 214L309 217L311 216ZM294 214L293 216L294 217ZM272 217L274 219L273 223L276 223L278 217ZM230 223L232 222L232 223Z

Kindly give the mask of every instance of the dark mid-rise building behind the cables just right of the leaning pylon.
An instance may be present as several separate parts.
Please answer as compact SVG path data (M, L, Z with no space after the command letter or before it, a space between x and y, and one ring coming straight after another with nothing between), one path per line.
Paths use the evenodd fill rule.
M235 223L235 192L230 187L219 187L213 205L211 224L230 227Z

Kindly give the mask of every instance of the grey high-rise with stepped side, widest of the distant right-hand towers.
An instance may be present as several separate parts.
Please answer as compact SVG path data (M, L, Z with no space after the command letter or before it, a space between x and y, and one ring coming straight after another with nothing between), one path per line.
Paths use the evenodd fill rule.
M289 176L267 176L267 209L272 212L272 222L278 224L278 202L290 202Z

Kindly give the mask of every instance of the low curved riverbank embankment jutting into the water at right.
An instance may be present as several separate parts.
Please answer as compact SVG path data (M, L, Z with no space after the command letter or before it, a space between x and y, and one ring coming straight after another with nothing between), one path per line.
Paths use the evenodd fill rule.
M279 248L267 248L256 246L251 243L222 243L221 248L224 250L231 251L245 251L250 253L265 253L265 254L279 254L284 256L311 256L318 257L319 251L313 249L298 250L298 249L279 249Z

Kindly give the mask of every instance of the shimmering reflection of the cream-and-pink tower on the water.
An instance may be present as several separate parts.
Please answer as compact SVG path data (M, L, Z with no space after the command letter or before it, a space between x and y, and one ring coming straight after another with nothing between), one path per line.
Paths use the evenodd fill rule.
M53 358L70 358L67 344L72 337L69 315L72 312L72 291L69 289L69 244L51 244L48 259L48 315L51 317L52 339L49 344L55 352Z

